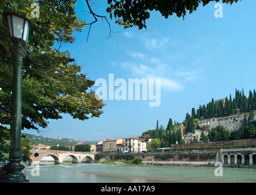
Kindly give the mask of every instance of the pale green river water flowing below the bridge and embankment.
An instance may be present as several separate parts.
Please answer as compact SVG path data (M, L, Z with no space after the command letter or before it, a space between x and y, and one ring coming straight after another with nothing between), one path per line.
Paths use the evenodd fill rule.
M166 183L166 182L256 182L256 169L216 167L136 166L100 163L25 165L31 183Z

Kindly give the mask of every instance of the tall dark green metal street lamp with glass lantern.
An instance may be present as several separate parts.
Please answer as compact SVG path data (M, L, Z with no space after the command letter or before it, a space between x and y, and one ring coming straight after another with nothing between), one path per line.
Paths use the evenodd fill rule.
M21 172L21 66L26 56L23 47L26 46L29 32L32 33L33 24L29 19L13 13L3 13L4 25L9 28L13 57L13 85L12 85L12 115L10 124L9 163L4 166L5 174L1 175L2 182L28 182Z

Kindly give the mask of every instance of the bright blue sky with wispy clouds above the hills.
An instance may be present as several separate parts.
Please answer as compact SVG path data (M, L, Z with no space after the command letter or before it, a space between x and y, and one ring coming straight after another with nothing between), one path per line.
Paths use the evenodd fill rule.
M98 15L105 12L107 1L96 1L92 9ZM83 74L89 79L105 79L114 74L114 80L161 79L161 104L149 107L145 100L106 100L100 118L86 121L62 115L50 120L42 133L25 130L44 137L64 137L74 140L104 140L106 138L138 137L159 125L167 126L169 118L182 122L192 107L235 95L235 89L244 93L255 88L256 13L255 1L241 1L232 6L223 4L223 18L215 18L215 3L202 5L185 19L159 13L150 13L147 30L137 27L123 29L111 23L112 38L106 21L93 24L87 43L89 27L75 34L75 44L65 44ZM86 3L78 2L76 13L90 23L91 16L83 12ZM243 82L241 82L241 76ZM92 87L97 90L99 87ZM114 87L116 90L118 87ZM155 89L155 88L154 88Z

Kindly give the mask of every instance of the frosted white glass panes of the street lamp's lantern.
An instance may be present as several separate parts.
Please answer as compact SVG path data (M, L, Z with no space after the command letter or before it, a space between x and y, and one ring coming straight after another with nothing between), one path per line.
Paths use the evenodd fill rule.
M20 38L27 42L27 37L29 35L29 21L15 15L7 15L7 21L10 37Z

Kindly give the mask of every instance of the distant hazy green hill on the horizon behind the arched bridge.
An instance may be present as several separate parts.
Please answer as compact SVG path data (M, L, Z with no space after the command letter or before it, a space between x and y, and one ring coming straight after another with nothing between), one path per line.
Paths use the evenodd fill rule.
M29 133L22 133L23 135L26 135L31 140L31 145L38 145L38 144L45 144L46 146L56 146L59 144L59 146L65 145L65 146L70 146L70 145L75 145L76 141L73 139L68 139L68 138L47 138L43 136L37 136L37 135L32 135ZM84 141L84 144L94 144L96 145L98 141Z

